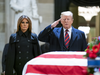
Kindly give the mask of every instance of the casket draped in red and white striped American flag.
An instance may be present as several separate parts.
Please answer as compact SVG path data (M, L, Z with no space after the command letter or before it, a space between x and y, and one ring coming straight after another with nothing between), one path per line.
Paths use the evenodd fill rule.
M86 52L48 52L28 61L22 75L87 75Z

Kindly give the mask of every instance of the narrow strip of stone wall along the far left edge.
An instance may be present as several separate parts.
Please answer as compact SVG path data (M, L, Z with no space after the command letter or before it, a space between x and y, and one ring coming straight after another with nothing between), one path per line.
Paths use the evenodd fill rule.
M1 66L2 51L5 44L5 20L4 20L5 13L4 12L5 12L5 3L4 0L0 0L0 73L2 71L2 66Z

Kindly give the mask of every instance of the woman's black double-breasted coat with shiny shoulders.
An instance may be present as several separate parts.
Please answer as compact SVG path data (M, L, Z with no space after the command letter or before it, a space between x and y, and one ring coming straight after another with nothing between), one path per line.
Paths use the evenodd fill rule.
M16 45L16 44L20 43L19 41L20 41L20 37L18 37L18 33L12 34L10 36L9 49L8 49L7 58L6 58L5 75L13 75L13 68L14 69L17 69L16 67L18 67L18 66L19 67L21 67L21 66L23 67L23 65L25 65L25 63L28 60L32 59L31 54L33 54L33 58L41 54L41 51L40 51L40 47L39 47L39 43L38 43L38 39L37 39L37 35L36 34L30 33L30 36L28 37L28 40L27 40L28 45L23 48L24 51L26 51L27 53L33 52L33 53L28 54L29 57L27 57L27 55L25 55L25 54L24 54L25 56L23 56L23 53L25 53L25 52L22 53L18 49L18 48L21 48L20 47L20 44L19 44L19 46ZM16 47L16 46L18 46L18 47ZM29 50L26 50L27 47L29 47ZM16 50L18 50L18 51L16 51ZM19 53L22 53L21 56L18 55ZM15 57L15 56L17 56L17 57ZM28 58L30 58L30 59L28 59L27 61L26 60L25 61L23 60L22 63L19 63L18 61L21 58L22 59L25 59L25 58L28 59Z

